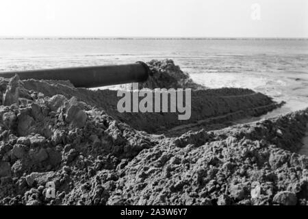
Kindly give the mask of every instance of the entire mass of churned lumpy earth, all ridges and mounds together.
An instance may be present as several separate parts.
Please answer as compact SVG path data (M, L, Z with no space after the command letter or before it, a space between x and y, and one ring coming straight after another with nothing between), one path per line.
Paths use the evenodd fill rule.
M172 60L149 66L142 88L192 88L189 120L119 113L115 90L1 78L0 204L307 205L308 110L233 125L282 103L198 86Z

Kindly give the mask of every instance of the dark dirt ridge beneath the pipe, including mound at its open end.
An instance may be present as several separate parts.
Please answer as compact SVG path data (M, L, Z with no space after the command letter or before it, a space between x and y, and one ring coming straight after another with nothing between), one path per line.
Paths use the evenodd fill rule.
M220 89L195 89L194 83L188 75L183 73L179 66L172 60L153 60L148 63L153 76L149 81L140 84L142 88L191 88L191 117L188 120L179 120L179 113L119 113L118 101L122 98L117 96L116 90L88 90L75 88L67 81L37 81L25 80L23 87L27 90L41 92L46 96L62 94L67 99L75 96L79 101L103 110L116 120L127 123L134 129L149 133L166 133L166 131L183 125L212 127L212 124L221 125L230 120L259 116L276 109L282 103L276 103L272 99L259 92L243 88L220 88ZM168 79L166 79L168 78ZM173 81L173 82L172 82ZM200 88L200 86L199 86ZM137 91L131 91L137 92ZM155 91L153 92L153 99ZM143 97L139 97L139 101ZM169 100L170 101L170 100ZM153 101L154 103L155 101ZM170 109L170 105L168 105ZM216 125L214 127L217 127ZM179 129L177 129L179 130ZM185 132L185 129L177 131L177 134Z

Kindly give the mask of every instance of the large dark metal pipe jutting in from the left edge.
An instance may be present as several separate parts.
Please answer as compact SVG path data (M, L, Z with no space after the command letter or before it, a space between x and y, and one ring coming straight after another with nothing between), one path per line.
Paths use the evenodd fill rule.
M22 70L0 72L0 77L20 79L69 80L76 88L97 88L120 83L142 82L151 71L144 62L108 66L86 66L72 68L49 68L42 70Z

